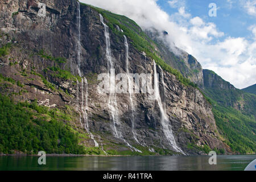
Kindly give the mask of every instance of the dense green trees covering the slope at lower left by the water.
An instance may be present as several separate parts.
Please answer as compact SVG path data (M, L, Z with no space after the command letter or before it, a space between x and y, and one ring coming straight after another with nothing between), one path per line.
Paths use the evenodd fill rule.
M0 153L85 154L78 144L78 134L63 122L69 119L67 114L36 102L14 104L0 94Z

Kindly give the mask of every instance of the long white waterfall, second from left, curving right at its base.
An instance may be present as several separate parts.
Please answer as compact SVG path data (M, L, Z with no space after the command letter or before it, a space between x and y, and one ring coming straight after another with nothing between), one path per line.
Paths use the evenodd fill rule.
M119 122L119 114L118 114L118 105L117 105L117 99L115 95L115 84L112 83L114 80L114 64L113 64L113 57L110 49L110 36L109 36L109 27L104 23L103 16L100 14L100 20L101 23L104 26L104 35L106 38L106 59L108 60L108 73L109 73L109 78L110 78L110 94L109 94L109 114L110 114L110 120L112 120L112 129L114 131L114 136L122 139L131 150L137 151L137 152L142 152L138 150L137 148L131 146L124 138L122 135L122 132L119 131L118 129L121 128L121 123ZM117 128L118 127L118 128Z

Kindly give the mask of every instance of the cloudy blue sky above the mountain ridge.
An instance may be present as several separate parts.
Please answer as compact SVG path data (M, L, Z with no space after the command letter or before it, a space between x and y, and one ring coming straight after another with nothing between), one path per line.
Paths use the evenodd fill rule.
M256 0L80 1L125 15L143 30L167 31L170 45L236 88L256 83Z

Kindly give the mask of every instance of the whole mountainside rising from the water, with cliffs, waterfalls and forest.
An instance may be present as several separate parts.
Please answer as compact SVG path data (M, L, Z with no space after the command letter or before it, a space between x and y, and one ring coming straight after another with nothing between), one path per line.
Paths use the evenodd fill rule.
M75 0L0 7L0 153L255 152L253 94L188 53L177 56L133 20ZM150 74L155 92L113 93L118 80L99 92L112 69Z

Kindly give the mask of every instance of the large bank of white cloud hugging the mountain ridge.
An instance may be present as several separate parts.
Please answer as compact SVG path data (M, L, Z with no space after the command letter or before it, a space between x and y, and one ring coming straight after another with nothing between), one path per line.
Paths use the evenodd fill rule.
M169 5L178 10L172 15L161 10L156 1L82 0L113 13L125 15L135 20L143 29L154 27L159 31L167 31L169 36L166 39L170 45L175 43L177 47L195 56L204 69L212 69L237 88L255 84L256 40L252 42L245 38L224 37L224 32L219 31L216 24L204 22L200 17L188 14L184 1L169 1ZM253 3L256 0L247 2ZM256 38L255 27L249 29Z

